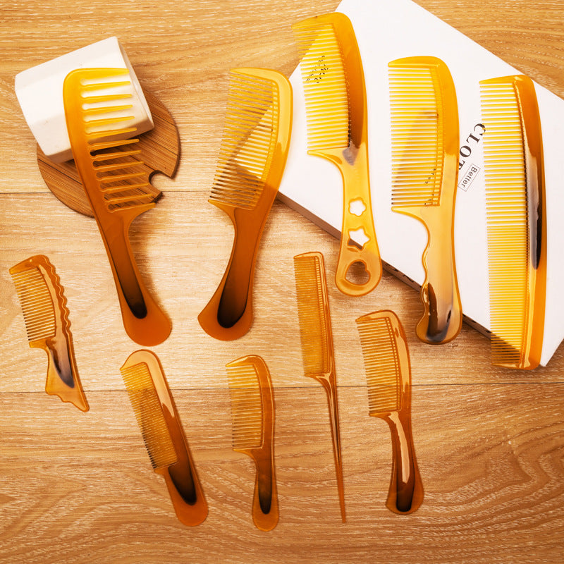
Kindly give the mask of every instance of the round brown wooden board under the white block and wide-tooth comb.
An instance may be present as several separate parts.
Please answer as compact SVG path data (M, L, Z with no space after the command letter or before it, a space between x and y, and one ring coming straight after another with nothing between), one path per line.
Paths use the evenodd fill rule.
M140 159L147 167L149 178L156 172L172 178L180 158L180 140L176 123L166 107L150 92L145 92L145 98L151 109L154 128L139 135ZM37 145L37 164L47 187L63 204L74 209L75 212L93 216L74 161L54 163L45 157ZM151 188L154 192L153 201L157 202L161 197L161 191Z

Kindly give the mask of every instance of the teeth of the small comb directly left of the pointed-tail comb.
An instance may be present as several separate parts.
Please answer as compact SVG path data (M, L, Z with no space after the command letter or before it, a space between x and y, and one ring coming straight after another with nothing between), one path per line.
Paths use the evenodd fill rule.
M263 407L259 380L252 364L228 366L233 448L259 448L263 441Z

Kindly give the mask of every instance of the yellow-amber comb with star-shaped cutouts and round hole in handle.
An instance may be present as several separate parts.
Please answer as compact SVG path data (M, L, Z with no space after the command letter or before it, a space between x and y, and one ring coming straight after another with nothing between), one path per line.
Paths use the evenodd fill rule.
M342 13L292 26L307 113L307 153L335 164L343 177L343 225L335 282L347 295L376 288L382 266L370 201L367 99L353 25ZM348 275L364 269L360 283ZM351 276L352 278L353 276Z

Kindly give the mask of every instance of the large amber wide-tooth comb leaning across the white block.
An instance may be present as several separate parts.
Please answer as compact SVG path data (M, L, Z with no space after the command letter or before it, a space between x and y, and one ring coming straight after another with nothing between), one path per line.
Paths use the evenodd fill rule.
M68 137L80 179L102 234L123 326L140 345L162 343L171 321L149 294L128 238L131 222L154 207L149 176L128 127L133 87L125 68L83 68L63 84Z

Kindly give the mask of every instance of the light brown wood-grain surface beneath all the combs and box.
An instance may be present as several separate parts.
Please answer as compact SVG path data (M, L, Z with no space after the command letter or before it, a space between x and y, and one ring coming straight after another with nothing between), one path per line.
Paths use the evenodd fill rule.
M564 96L564 5L557 0L419 0L541 85ZM564 548L564 348L546 368L492 367L469 326L452 343L415 338L419 295L390 274L363 298L330 284L348 521L341 522L324 391L303 376L293 256L338 242L276 202L255 278L255 324L221 343L197 323L223 274L232 227L207 203L223 127L228 69L298 62L290 24L329 0L181 4L137 0L0 4L0 562L30 563L560 563ZM382 1L382 5L385 6ZM16 73L117 35L142 85L171 111L180 166L158 177L157 207L132 228L140 270L173 321L154 347L209 503L198 527L176 519L152 472L119 367L139 348L123 331L94 220L51 195L21 116ZM56 265L90 411L44 393L46 357L27 346L8 268L38 252ZM331 276L329 276L331 279ZM412 360L412 417L424 503L384 505L386 424L367 415L355 319L393 309ZM269 365L276 400L280 521L252 523L254 468L231 450L225 364Z

